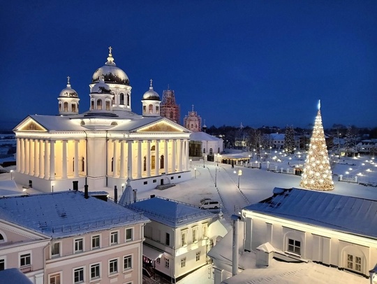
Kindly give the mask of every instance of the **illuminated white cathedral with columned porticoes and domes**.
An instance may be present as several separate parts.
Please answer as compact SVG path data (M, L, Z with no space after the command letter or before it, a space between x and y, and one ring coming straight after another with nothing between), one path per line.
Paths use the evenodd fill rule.
M13 131L17 139L15 181L43 192L68 189L120 190L126 180L139 191L191 178L191 132L160 116L153 90L142 97L142 115L131 111L131 85L109 48L108 61L91 80L89 111L79 96L59 94L59 115L29 115Z

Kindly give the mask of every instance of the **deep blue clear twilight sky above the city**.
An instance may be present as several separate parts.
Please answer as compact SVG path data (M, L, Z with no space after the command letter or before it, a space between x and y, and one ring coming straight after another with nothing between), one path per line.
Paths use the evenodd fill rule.
M6 1L0 128L55 115L66 77L89 110L108 47L132 87L154 80L215 125L377 126L377 1Z

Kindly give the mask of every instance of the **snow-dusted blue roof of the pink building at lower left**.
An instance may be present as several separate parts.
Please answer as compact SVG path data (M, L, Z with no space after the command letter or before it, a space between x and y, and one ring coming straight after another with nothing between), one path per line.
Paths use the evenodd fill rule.
M53 238L147 222L142 214L83 192L66 191L0 198L3 220Z

